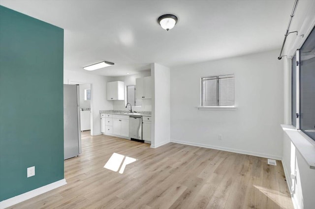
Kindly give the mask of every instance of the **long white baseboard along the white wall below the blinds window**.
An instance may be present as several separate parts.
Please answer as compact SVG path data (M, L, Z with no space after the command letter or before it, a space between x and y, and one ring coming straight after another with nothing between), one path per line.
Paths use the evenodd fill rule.
M210 148L210 149L215 149L215 150L222 150L222 151L239 153L239 154L256 156L256 157L265 157L265 158L282 160L281 156L274 156L274 155L269 155L269 154L264 154L264 153L255 153L255 152L250 152L250 151L246 151L246 150L237 150L237 149L232 149L232 148L227 148L227 147L219 147L219 146L213 146L213 145L208 145L208 144L192 143L192 142L180 141L180 140L171 140L171 142L178 143L178 144L186 144L186 145L191 145L191 146L196 146L196 147Z

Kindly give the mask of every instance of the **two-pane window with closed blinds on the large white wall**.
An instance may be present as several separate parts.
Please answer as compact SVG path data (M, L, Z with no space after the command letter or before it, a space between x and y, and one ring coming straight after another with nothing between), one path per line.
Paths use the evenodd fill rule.
M234 75L201 78L201 106L234 106Z

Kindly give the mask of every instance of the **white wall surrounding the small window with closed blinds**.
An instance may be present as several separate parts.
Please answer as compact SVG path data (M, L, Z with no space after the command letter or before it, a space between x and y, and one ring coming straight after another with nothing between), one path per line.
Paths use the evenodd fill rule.
M171 141L282 158L283 66L279 51L171 69ZM198 110L200 78L234 74L231 110ZM222 135L222 140L218 135Z

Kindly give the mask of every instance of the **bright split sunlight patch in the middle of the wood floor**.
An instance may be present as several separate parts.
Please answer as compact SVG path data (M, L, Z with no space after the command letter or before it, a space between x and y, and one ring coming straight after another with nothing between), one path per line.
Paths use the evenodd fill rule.
M133 157L127 157L118 153L113 153L113 155L108 159L104 168L117 172L119 170L120 174L123 174L126 165L135 162L137 159ZM120 168L120 169L119 169Z

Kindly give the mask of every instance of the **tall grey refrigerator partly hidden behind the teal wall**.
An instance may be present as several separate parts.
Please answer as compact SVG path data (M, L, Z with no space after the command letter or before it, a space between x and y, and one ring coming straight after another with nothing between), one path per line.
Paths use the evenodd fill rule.
M63 147L64 159L81 153L79 85L63 84Z

